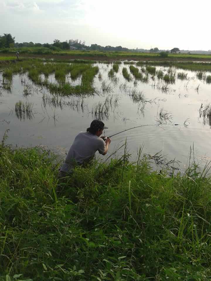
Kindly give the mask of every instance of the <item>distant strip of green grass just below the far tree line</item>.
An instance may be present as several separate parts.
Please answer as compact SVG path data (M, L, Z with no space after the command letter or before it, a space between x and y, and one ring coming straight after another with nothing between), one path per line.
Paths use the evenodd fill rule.
M135 59L161 59L158 53L142 53L142 52L112 52L112 51L93 51L93 50L67 50L61 51L58 48L55 50L51 50L49 48L44 47L22 47L22 48L7 48L0 49L0 57L1 55L5 56L6 54L14 55L17 52L17 49L20 51L20 58L22 56L70 56L70 57L93 57L93 58L135 58ZM168 54L168 60L210 60L211 55L205 54Z

